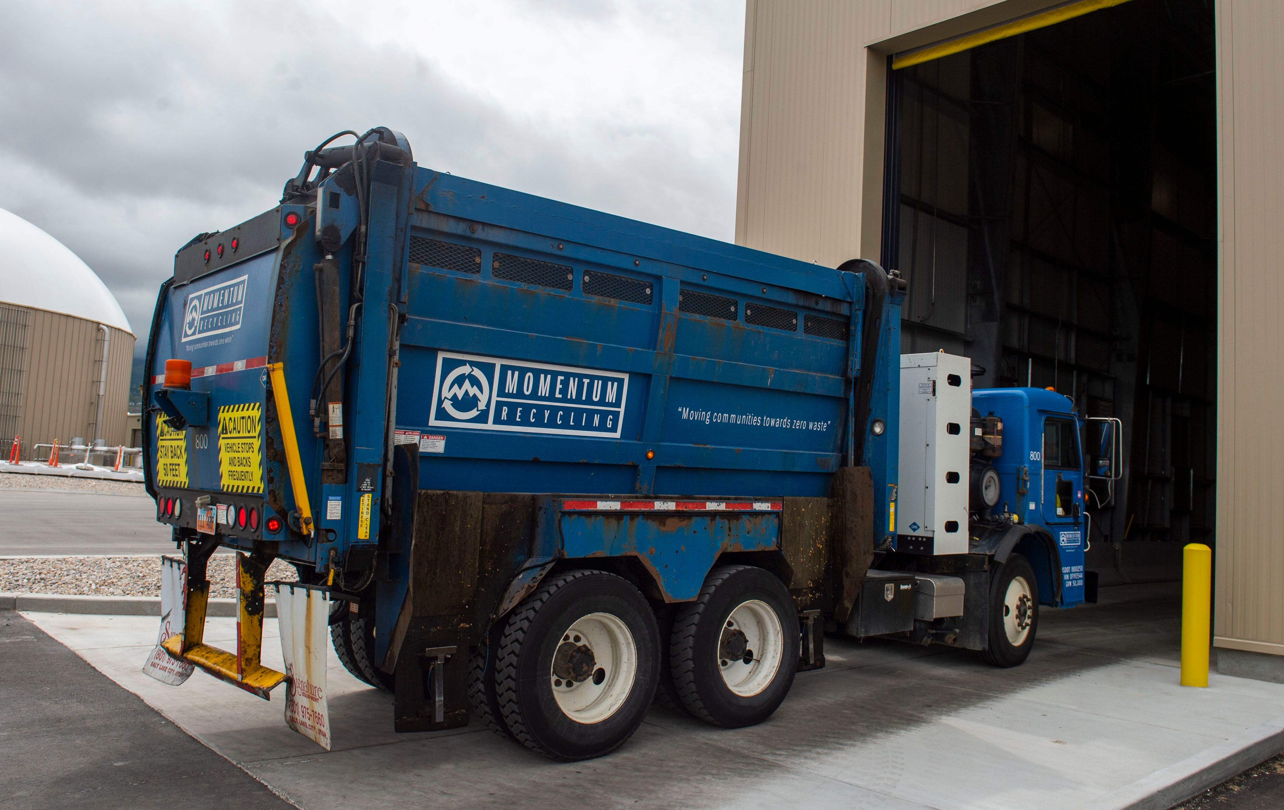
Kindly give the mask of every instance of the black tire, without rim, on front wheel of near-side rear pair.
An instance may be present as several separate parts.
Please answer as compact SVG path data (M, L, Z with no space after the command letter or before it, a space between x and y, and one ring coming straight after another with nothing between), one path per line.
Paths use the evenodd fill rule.
M760 691L738 694L723 676L719 655L724 652L723 630L732 611L750 601L765 603L779 621L781 660ZM742 728L761 723L794 685L799 643L797 608L781 580L747 565L715 567L696 601L679 610L673 620L669 665L678 700L693 716L715 725ZM752 664L752 657L747 660L746 666ZM737 664L733 661L731 666Z

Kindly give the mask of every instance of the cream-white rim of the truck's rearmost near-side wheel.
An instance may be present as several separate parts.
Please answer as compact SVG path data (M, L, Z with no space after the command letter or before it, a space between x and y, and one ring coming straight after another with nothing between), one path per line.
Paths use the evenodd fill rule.
M633 634L618 616L588 614L566 628L559 650L564 646L587 647L592 653L592 670L579 682L564 678L566 673L557 671L559 657L553 655L548 675L557 707L577 723L601 723L614 715L633 691L638 673Z

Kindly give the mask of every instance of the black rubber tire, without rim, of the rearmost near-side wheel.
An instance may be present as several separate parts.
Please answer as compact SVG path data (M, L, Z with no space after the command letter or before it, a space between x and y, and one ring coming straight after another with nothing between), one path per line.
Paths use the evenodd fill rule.
M568 643L570 628L592 614L606 614L628 629L636 670L630 683L620 684L627 685L623 697L614 693L619 701L615 709L584 723L561 709L559 700L566 698L553 694L553 659ZM517 742L552 759L570 761L610 754L633 736L655 697L659 647L650 605L624 579L605 571L550 576L514 608L499 634L494 674L501 718ZM587 639L582 648L587 648ZM597 673L603 678L609 674L602 668L593 669L597 664L592 655L586 660L592 662L588 679L601 685ZM575 687L568 688L586 683L584 675L578 678ZM607 692L600 694L605 697Z

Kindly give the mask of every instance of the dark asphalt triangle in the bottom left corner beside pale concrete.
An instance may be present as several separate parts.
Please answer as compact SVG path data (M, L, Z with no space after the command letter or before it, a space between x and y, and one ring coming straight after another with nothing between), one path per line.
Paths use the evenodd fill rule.
M14 611L0 684L0 807L293 806Z

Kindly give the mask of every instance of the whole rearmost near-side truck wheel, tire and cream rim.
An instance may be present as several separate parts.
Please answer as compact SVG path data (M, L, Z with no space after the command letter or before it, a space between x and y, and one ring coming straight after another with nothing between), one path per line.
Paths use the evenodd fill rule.
M517 605L499 634L499 714L532 751L602 756L642 724L659 664L655 615L638 589L605 571L566 571Z

